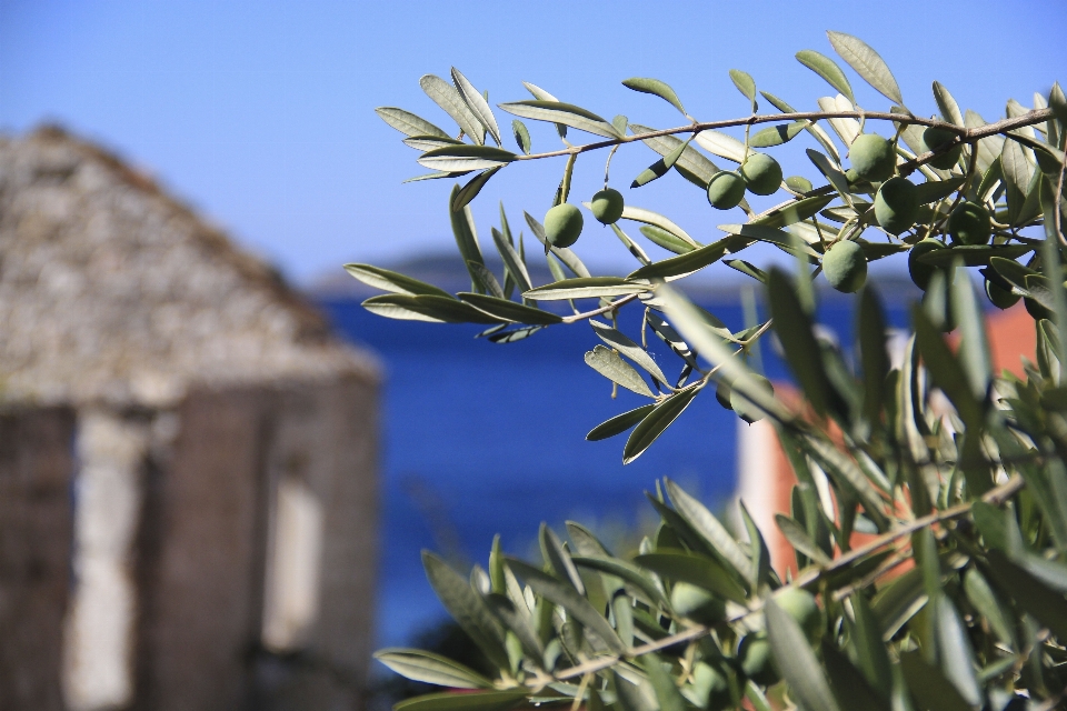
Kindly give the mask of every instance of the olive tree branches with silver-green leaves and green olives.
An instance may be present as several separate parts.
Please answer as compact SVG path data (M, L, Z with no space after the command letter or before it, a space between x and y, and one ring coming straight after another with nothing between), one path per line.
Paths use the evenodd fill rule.
M353 277L389 292L368 299L367 309L483 323L490 328L482 336L498 343L586 323L596 343L586 362L648 399L588 439L628 431L622 455L632 461L695 398L711 393L748 420L771 421L798 479L791 511L777 517L798 564L785 580L744 507L744 530L735 535L669 480L649 495L661 522L637 554L614 554L578 523L567 524L568 541L542 527L544 559L536 563L505 555L498 540L488 570L476 565L469 578L425 553L433 590L497 671L488 678L429 652L382 650L377 657L390 669L442 687L398 709L944 711L1064 703L1067 100L1057 84L1047 97L1035 94L1033 108L1011 100L1006 118L986 123L934 82L940 114L915 116L874 49L848 34L829 39L844 64L891 102L888 111L856 106L844 64L811 50L797 59L836 92L818 100L819 111L797 111L731 70L751 112L701 122L666 83L626 80L685 117L658 130L622 116L606 120L527 83L532 100L496 107L517 117L512 152L488 94L455 69L451 82L428 76L421 83L458 129L378 110L435 171L417 180L471 176L449 204L471 289L452 296L349 264ZM758 97L778 112L759 112ZM562 147L532 152L523 120L549 124L545 134ZM744 141L720 131L729 127L744 127ZM594 141L584 142L590 133ZM810 144L810 177L782 179L771 153L794 149L801 137ZM584 220L570 177L577 160L599 152L610 163L618 149L637 143L659 158L631 187L674 169L707 194L709 212L736 206L746 221L722 224L722 237L702 244L610 189L606 168L605 191L582 204L611 224L637 263L629 274L592 277L570 248ZM516 236L502 207L490 233L503 273L491 273L468 203L497 172L554 157L566 158L557 207L544 221L525 214L525 222L556 282L531 283L526 260L540 250ZM757 213L746 192L785 200ZM650 259L642 240L620 227L634 223L672 254ZM745 261L740 252L758 242L792 256L796 268ZM925 298L911 310L914 332L894 368L879 298L865 280L867 262L905 252ZM762 286L769 320L731 332L670 286L720 264ZM983 298L997 307L1026 300L1037 362L1025 363L1025 378L993 372L967 268L980 268ZM822 277L860 291L855 367L814 330L814 282ZM571 313L560 316L566 304ZM644 310L641 333L618 329L624 308ZM802 391L800 408L776 398L748 363L771 330ZM677 362L649 356L640 344L649 331ZM856 532L869 535L859 544Z

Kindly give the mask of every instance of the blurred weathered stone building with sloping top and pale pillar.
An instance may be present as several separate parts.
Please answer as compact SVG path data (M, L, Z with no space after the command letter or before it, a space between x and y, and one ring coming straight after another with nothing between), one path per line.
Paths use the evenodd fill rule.
M377 383L149 178L0 139L0 708L357 708Z

